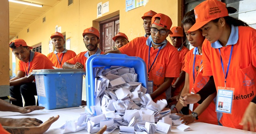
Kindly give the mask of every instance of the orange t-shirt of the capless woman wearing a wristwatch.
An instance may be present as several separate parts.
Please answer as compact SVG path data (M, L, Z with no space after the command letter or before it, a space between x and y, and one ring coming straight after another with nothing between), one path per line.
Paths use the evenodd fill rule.
M194 64L194 53L195 53L195 48L191 49L186 57L185 57L185 67L184 71L189 74L189 92L192 91L193 93L197 93L200 91L206 83L209 81L208 76L202 76L203 70L202 68L202 55L196 54L196 60L195 60L195 67L194 67L194 77L195 77L195 83L194 83L194 77L193 77L193 64ZM200 65L201 64L201 65ZM196 67L198 68L198 71L196 71ZM203 67L204 69L204 67ZM194 84L193 84L194 83ZM193 106L193 111L198 107L198 103L195 103ZM218 119L217 119L217 113L215 112L215 103L212 101L209 106L198 116L199 122L205 122L205 123L210 123L210 124L216 124L218 125Z

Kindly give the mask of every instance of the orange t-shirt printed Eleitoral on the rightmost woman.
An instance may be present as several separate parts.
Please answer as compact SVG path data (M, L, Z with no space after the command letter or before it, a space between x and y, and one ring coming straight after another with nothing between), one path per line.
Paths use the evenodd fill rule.
M232 26L232 30L236 30L235 28L237 27ZM245 26L239 26L237 30L237 42L234 42L235 39L228 39L226 47L219 46L226 72L232 46L229 42L234 42L226 79L226 87L235 89L232 114L223 113L220 122L223 126L242 129L239 123L249 102L252 101L256 94L256 30ZM234 38L234 35L230 34L230 38L232 37ZM203 75L213 75L216 88L224 87L225 77L220 61L219 49L211 47L211 43L205 40L202 51L204 61Z

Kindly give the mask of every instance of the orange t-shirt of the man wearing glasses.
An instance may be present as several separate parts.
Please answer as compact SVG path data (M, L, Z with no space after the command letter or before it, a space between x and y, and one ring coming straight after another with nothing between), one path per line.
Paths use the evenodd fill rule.
M142 58L146 63L146 68L148 72L148 49L149 46L146 45L148 37L137 37L119 48L120 52L128 56L137 56ZM167 41L167 40L166 40ZM152 65L159 49L150 48L150 63L149 67ZM167 41L166 45L160 50L158 57L152 69L149 72L149 79L153 79L153 92L164 83L165 77L179 77L180 76L180 60L179 53L177 49ZM166 99L165 93L162 93L153 101L160 99Z

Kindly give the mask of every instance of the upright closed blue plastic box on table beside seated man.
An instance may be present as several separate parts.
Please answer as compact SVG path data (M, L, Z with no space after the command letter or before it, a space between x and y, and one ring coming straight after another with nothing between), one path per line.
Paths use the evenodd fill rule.
M46 109L81 105L84 69L33 70L39 106Z

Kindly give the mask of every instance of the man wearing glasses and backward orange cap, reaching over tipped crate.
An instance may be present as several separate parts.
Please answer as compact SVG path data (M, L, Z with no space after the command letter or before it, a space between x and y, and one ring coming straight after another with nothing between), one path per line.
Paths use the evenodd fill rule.
M154 102L166 99L164 92L171 86L174 77L180 76L179 53L166 40L172 34L171 26L172 20L168 16L156 14L152 17L149 37L137 37L123 47L107 52L137 56L145 61L148 81L153 82L153 93L150 95Z

